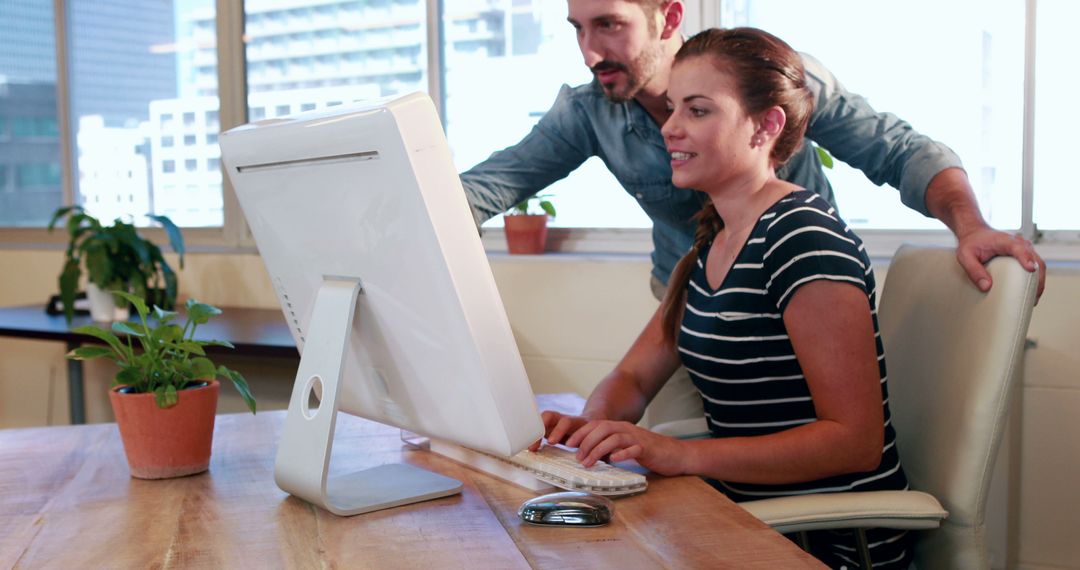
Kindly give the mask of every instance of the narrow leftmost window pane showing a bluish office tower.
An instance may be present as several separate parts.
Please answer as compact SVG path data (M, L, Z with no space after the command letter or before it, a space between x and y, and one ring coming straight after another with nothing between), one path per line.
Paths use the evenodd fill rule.
M64 203L53 22L53 2L0 4L0 226L43 228Z

